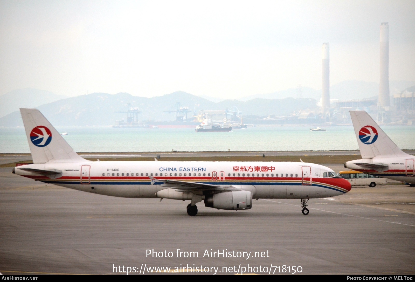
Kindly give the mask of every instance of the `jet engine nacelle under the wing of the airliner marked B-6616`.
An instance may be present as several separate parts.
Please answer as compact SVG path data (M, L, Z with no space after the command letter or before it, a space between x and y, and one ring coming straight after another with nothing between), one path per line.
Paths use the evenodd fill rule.
M205 206L222 210L244 210L252 206L251 191L229 191L205 196Z

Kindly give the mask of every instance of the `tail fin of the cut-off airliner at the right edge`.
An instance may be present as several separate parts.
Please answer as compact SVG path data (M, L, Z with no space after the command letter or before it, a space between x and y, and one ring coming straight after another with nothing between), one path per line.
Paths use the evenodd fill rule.
M386 135L379 125L365 111L350 111L357 143L363 159L408 155Z

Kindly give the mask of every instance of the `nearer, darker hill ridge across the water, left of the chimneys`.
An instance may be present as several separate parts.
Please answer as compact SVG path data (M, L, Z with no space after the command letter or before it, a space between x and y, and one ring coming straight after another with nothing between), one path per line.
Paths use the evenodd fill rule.
M256 116L290 115L295 110L315 109L317 107L317 101L310 98L269 100L256 98L251 101L225 100L214 103L186 92L177 91L152 98L132 96L128 93L114 95L92 93L47 103L36 108L56 126L93 126L113 125L115 120L127 120L126 113L116 112L126 111L129 106L138 107L142 111L139 114L139 119L143 121L175 120L176 113L167 113L165 111L175 111L177 102L192 110L192 113L188 115L190 119L192 119L192 114L198 113L199 110L225 110L233 106L242 111L243 115ZM0 118L0 126L22 125L19 111Z

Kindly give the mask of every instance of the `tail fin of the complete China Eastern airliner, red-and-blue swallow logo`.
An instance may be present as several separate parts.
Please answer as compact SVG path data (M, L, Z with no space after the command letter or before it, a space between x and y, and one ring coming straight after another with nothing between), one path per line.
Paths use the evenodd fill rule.
M20 109L34 164L85 162L37 109Z

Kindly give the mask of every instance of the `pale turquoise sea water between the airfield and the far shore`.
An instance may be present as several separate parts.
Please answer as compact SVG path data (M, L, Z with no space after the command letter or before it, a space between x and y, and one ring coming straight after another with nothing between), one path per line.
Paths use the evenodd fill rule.
M193 128L57 127L76 152L309 151L359 150L352 126L258 126L232 132L195 132ZM415 126L384 125L401 149L415 149ZM29 151L24 128L0 128L0 153Z

